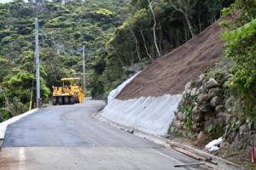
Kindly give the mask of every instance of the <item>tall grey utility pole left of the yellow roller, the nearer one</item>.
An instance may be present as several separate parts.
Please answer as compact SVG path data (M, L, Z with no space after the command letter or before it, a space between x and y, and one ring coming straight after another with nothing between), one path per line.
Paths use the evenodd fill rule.
M37 80L37 107L40 107L40 73L39 73L39 49L38 49L38 18L35 20L36 27L36 49L35 49L35 57L36 57L36 80Z

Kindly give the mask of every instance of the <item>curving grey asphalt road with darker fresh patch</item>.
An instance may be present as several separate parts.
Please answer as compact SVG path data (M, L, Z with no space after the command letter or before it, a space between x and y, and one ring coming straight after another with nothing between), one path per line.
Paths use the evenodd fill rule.
M109 127L92 114L100 100L51 106L9 125L0 169L183 169L194 159ZM191 168L190 168L191 169ZM198 169L198 168L196 168Z

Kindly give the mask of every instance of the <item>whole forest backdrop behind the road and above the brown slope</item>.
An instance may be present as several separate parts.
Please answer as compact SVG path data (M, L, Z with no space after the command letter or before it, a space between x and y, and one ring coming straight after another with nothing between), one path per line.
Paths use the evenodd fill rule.
M82 77L105 98L131 73L203 31L232 0L14 0L0 3L0 83L13 115L35 103L35 29L39 21L41 97L61 77ZM90 50L93 49L93 50ZM137 63L143 63L137 66ZM0 94L0 107L5 99ZM9 114L5 114L5 118ZM1 117L0 117L1 118ZM2 114L3 119L3 114ZM1 121L1 120L0 120Z

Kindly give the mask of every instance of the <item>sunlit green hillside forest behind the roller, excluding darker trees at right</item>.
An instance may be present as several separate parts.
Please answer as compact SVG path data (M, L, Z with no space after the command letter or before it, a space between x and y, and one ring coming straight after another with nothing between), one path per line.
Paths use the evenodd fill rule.
M61 77L82 77L82 46L85 46L87 86L105 70L105 44L125 18L125 2L119 1L46 1L15 0L0 3L0 84L10 103L10 112L0 111L0 122L28 110L35 103L35 18L39 22L41 98L48 102L52 85ZM96 48L90 51L89 48ZM92 81L90 81L92 79ZM92 82L92 83L90 83ZM87 92L87 94L89 94ZM5 99L0 93L0 107Z

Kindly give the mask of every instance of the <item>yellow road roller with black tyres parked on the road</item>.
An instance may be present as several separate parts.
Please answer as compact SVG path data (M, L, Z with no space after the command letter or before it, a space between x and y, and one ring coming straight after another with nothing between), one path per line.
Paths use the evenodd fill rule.
M80 78L61 78L61 81L62 87L52 87L52 105L74 105L84 101L84 89L78 84Z

